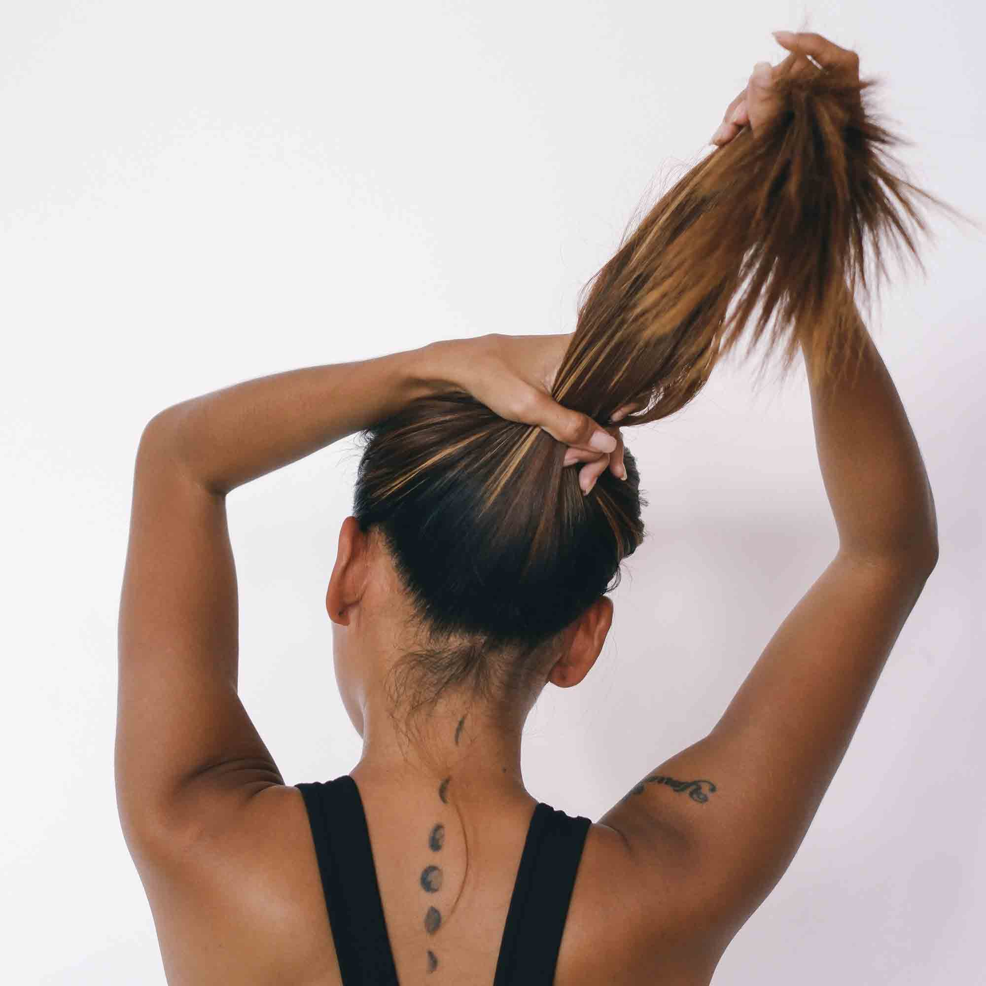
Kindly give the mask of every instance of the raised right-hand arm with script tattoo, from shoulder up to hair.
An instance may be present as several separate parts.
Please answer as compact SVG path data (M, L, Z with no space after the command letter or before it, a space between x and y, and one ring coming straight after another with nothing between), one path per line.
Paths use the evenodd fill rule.
M717 955L791 863L938 558L917 442L859 324L855 380L811 387L838 552L712 732L600 819L654 864L656 892L674 854L682 921Z

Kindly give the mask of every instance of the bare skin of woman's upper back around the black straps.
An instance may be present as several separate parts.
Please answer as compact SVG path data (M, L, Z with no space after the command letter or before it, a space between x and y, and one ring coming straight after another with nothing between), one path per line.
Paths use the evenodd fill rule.
M401 986L491 986L528 827L529 796L450 831L442 852L442 924L425 931L418 833L434 807L424 793L361 788L387 938ZM669 842L666 860L676 864ZM714 962L688 948L675 900L655 900L653 875L626 840L589 827L558 951L556 986L705 984ZM535 875L536 879L536 875ZM278 983L340 986L317 851L302 792L270 785L219 831L201 831L148 880L171 986ZM435 897L439 901L438 895ZM428 955L433 952L433 956ZM429 971L431 969L431 971ZM350 986L347 983L347 986Z

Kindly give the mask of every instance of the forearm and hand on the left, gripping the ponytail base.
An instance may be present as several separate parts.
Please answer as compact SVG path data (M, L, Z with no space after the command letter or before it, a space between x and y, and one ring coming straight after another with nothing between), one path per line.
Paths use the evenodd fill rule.
M449 390L471 393L501 417L541 426L583 450L583 460L599 459L616 447L612 435L548 396L570 338L492 334L292 370L176 404L160 423L177 441L184 467L213 493L369 428L415 397Z

